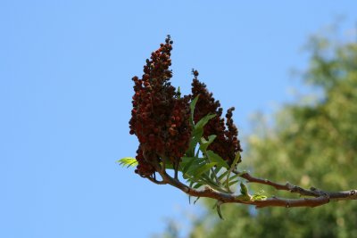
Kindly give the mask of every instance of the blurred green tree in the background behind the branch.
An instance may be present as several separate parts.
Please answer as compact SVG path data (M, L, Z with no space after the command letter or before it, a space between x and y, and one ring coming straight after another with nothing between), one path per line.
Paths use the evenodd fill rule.
M328 191L352 189L357 166L357 44L312 37L309 50L311 62L303 80L321 93L319 98L285 105L273 126L257 119L243 166L272 181L287 179ZM262 189L248 186L253 193ZM263 188L268 196L281 194ZM225 204L223 221L212 205L204 200L206 214L195 220L189 237L357 237L356 201L314 209ZM177 233L165 235L173 236Z

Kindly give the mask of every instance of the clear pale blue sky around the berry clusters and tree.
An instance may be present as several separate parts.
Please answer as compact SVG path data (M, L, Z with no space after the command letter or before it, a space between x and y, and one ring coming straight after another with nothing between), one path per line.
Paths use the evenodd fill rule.
M132 81L170 34L172 84L192 68L248 132L299 86L307 37L357 1L0 1L0 237L149 237L195 213L115 161L135 156ZM289 79L290 78L290 79Z

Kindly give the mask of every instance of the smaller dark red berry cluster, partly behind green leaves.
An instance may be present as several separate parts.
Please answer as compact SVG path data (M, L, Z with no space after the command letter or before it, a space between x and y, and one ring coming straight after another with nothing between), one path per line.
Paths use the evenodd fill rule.
M240 142L237 138L238 130L232 119L232 111L234 111L234 108L228 109L225 125L224 119L221 118L222 108L220 108L220 102L215 101L212 93L207 90L206 85L197 79L198 71L192 71L195 76L192 82L192 98L199 95L195 105L194 121L196 123L210 113L217 115L203 127L203 136L207 139L209 135L217 135L208 149L216 152L224 160L227 160L228 164L231 164L233 160L235 160L236 153L242 152Z

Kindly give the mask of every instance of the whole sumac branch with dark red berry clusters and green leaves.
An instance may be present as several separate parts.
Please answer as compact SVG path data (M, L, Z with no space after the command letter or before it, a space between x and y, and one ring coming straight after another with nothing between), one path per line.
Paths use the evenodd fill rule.
M326 192L313 187L304 189L240 171L242 148L232 119L234 108L223 114L220 102L199 81L197 70L192 70L191 94L181 95L179 88L171 86L172 43L170 36L166 37L165 43L151 54L150 59L146 59L143 76L132 78L134 95L129 133L137 136L139 145L137 156L119 160L121 165L137 167L137 175L157 185L172 185L197 199L216 200L214 208L220 217L223 203L242 203L256 208L290 208L357 199L356 190ZM267 197L263 192L251 194L247 183L269 185L298 193L300 197L288 199ZM238 193L234 191L237 184L240 187Z

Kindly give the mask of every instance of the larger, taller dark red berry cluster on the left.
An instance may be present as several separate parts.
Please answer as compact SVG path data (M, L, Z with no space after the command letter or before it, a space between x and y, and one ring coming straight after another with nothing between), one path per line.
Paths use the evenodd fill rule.
M170 85L172 72L170 36L146 60L142 78L132 78L135 86L133 110L129 121L130 134L137 135L136 172L141 176L154 173L153 165L162 159L178 164L188 148L191 137L189 97L180 98Z

